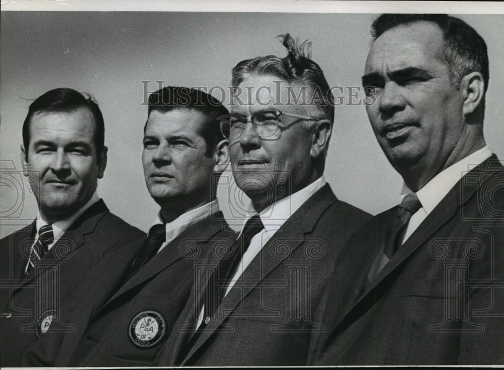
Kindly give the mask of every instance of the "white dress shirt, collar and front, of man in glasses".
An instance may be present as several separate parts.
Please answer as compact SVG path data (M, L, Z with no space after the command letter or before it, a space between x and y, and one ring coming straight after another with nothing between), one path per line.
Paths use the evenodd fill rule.
M310 183L307 187L291 194L285 198L282 198L278 202L273 203L268 208L264 209L259 213L261 222L264 225L264 230L260 231L258 234L254 235L250 239L250 244L243 254L243 257L236 268L236 272L229 282L229 286L226 289L226 296L234 283L240 280L242 272L247 268L247 266L252 262L252 260L259 254L263 246L271 239L271 237L283 226L285 221L287 221L294 212L296 212L301 205L308 200L313 194L317 193L324 185L326 180L324 176L321 176L317 180ZM240 232L243 230L246 221L256 215L257 212L254 210L253 206L250 205L250 210L247 217L243 220L243 225L241 226ZM197 327L199 327L203 321L203 315L205 312L205 306L202 307L200 315L198 316Z

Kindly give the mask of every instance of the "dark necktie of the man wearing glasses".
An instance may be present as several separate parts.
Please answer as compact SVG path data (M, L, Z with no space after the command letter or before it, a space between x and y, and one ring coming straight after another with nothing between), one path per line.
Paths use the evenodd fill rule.
M224 296L224 292L226 291L229 282L233 277L234 270L236 270L236 267L243 258L243 254L246 252L248 246L250 245L250 240L262 229L264 229L264 225L261 222L259 215L250 217L245 223L242 232L240 233L240 235L238 235L238 238L233 243L232 254L229 257L223 258L219 261L219 266L216 270L214 270L213 274L208 279L207 286L205 288L205 291L203 292L203 302L205 304L203 313L204 321L201 323L196 333L194 333L192 338L184 346L184 350L180 354L181 357L185 357L185 355L189 353L206 325L210 322L210 318L214 316L215 312L217 311L217 307L219 306L219 303ZM222 285L221 288L218 287L218 282L222 283L219 284Z

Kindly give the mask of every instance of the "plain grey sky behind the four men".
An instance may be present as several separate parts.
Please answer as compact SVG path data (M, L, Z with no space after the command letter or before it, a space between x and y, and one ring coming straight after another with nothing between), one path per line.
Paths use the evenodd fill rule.
M22 122L31 101L56 87L91 93L105 119L108 165L98 193L110 210L148 230L158 206L143 178L141 154L147 118L145 85L215 87L230 82L238 61L285 52L276 36L289 32L312 42L312 59L323 69L337 101L325 176L336 195L372 214L399 202L402 179L374 139L356 89L364 70L377 14L7 12L0 13L0 237L36 214L28 182L20 176ZM461 15L485 39L490 59L484 132L504 158L501 87L504 86L504 16ZM352 88L355 87L355 88ZM349 89L356 97L349 96ZM228 182L227 184L225 182ZM16 184L15 186L13 184ZM218 197L226 216L243 196L224 175ZM231 198L231 205L227 200ZM238 206L237 206L238 204ZM12 213L12 215L10 215Z

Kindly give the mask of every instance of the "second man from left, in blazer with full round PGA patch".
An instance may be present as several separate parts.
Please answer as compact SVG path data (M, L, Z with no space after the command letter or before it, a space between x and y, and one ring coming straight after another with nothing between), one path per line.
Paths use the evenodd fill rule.
M102 258L89 278L99 288L79 292L88 304L74 315L76 331L44 338L25 365L153 363L187 301L195 265L214 248L230 249L237 236L216 199L228 162L216 117L226 113L197 89L165 87L149 96L142 158L147 188L161 207L154 226L146 240ZM135 253L133 264L124 260Z

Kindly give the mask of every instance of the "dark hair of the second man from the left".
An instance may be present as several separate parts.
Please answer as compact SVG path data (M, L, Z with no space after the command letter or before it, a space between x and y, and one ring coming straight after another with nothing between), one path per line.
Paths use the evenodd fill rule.
M226 138L220 131L220 123L217 119L221 115L229 114L229 111L219 100L201 90L184 86L166 86L149 95L149 112L169 112L176 109L194 109L201 112L205 121L200 125L200 134L207 143L206 155L212 155L215 147L221 140ZM144 126L144 133L147 122Z

